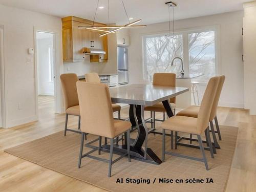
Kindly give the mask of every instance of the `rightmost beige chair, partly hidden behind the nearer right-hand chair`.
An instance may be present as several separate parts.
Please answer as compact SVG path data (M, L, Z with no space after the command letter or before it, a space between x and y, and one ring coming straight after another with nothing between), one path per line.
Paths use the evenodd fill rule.
M219 99L221 96L221 91L223 88L224 81L225 81L225 76L224 75L220 76L220 83L219 83L217 93L216 93L216 96L214 99L214 104L212 105L210 119L209 119L212 137L214 138L214 142L215 142L215 144L217 144L216 147L218 147L218 148L220 146L216 140L215 133L218 133L219 139L221 140L221 132L220 132L219 123L218 123L218 119L217 119L217 107L218 107ZM199 110L200 110L199 106L189 106L187 109L180 111L177 115L197 118ZM213 120L215 120L217 131L214 130L214 123L212 123ZM190 136L190 138L191 138L191 136Z

